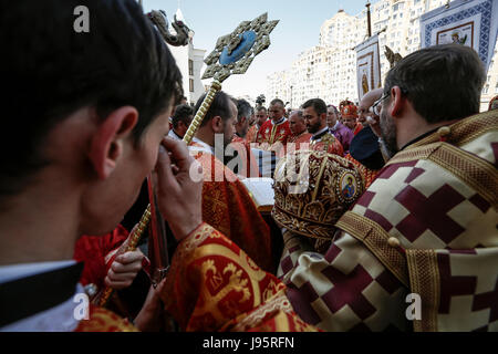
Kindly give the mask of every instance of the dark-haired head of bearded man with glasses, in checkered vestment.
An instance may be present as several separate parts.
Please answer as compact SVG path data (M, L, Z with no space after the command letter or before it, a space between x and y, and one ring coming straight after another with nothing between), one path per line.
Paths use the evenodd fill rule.
M439 54L440 56L435 56ZM465 54L465 55L464 55ZM465 71L456 67L466 67ZM453 71L442 82L439 71ZM394 66L385 80L384 94L380 103L382 136L392 155L411 144L416 134L429 134L438 126L450 125L459 119L479 112L480 92L485 80L481 62L475 60L475 52L466 53L458 45L439 46L422 50L417 55L408 55L403 65ZM461 84L466 82L466 84ZM442 105L443 97L445 104ZM387 100L388 98L388 100ZM408 102L412 119L396 119L405 112L398 112L400 102ZM406 108L408 110L408 108ZM406 124L413 124L406 126Z

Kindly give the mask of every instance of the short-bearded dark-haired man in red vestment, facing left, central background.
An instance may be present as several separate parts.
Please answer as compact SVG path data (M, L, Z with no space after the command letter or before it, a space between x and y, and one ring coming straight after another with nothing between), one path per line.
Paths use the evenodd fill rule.
M302 116L307 123L308 132L311 133L310 148L323 150L339 156L344 155L341 143L330 133L326 124L326 104L321 98L312 98L302 105Z

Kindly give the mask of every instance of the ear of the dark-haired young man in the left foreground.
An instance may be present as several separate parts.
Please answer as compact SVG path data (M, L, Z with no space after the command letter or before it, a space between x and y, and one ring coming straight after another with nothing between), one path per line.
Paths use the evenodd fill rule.
M124 106L111 112L102 123L97 123L92 136L90 162L98 178L107 178L123 155L123 145L138 121L135 107Z

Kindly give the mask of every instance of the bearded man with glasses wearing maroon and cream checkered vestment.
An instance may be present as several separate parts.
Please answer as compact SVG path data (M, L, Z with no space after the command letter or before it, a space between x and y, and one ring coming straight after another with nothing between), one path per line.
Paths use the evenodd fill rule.
M478 114L485 77L457 44L387 73L376 104L392 158L323 257L286 238L279 274L302 319L329 331L497 330L498 116Z

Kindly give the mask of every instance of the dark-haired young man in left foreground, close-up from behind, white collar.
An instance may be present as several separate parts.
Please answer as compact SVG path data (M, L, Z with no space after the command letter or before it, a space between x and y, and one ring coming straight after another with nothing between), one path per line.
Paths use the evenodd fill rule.
M10 87L1 101L15 137L0 152L2 331L132 329L95 306L74 315L73 296L83 290L82 264L72 258L79 237L116 228L158 155L164 197L183 200L174 209L159 205L176 237L200 222L196 196L188 197L200 186L177 183L193 160L163 142L181 95L164 40L132 0L86 1L90 31L79 33L79 6L0 4L2 82ZM164 173L165 149L183 165L176 177Z

